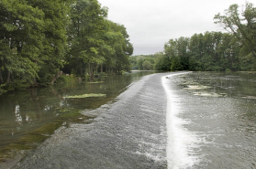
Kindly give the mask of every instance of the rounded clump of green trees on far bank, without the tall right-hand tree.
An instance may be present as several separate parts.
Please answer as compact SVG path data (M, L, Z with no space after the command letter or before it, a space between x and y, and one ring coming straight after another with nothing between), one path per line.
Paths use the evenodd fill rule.
M170 63L171 70L224 71L252 70L253 55L231 34L206 32L190 38L171 39L164 45L164 56L157 68ZM245 57L247 56L247 57ZM165 59L164 59L165 58ZM165 61L164 61L165 60Z

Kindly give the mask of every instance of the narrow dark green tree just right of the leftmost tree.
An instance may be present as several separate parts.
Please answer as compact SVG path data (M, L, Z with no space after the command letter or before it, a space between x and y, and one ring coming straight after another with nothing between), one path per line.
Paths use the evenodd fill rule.
M67 24L73 0L27 0L44 13L42 50L39 55L39 83L47 85L63 67Z

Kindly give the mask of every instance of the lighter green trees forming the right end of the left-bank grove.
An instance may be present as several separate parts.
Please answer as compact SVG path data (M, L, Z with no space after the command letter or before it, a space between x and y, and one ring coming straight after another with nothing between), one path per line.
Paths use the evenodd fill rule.
M101 72L129 70L133 52L125 26L106 19L107 8L96 0L78 0L72 5L68 28L69 52L65 68L91 78L100 67Z

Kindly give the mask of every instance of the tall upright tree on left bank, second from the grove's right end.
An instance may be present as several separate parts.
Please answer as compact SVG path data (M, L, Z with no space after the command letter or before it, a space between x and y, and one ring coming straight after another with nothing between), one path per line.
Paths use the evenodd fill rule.
M80 76L86 68L93 77L94 70L104 62L100 48L105 45L106 15L107 9L96 0L78 0L72 4L67 60Z

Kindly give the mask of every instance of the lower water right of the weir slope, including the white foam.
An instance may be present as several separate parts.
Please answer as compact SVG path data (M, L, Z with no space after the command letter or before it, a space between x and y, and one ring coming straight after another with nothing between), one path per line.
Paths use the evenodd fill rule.
M169 168L256 168L255 74L197 72L162 81L171 107Z

